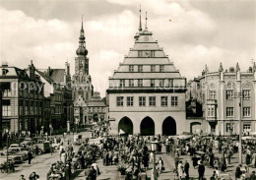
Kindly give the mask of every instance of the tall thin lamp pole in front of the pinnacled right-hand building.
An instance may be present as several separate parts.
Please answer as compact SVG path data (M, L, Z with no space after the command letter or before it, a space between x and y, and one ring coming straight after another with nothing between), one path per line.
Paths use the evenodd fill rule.
M240 117L239 117L239 163L242 164L242 92L235 92L232 98L239 98Z

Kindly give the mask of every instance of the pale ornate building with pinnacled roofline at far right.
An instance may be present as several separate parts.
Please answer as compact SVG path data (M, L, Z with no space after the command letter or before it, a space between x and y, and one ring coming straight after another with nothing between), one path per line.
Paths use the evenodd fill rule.
M191 82L190 94L202 104L207 133L238 134L240 119L243 133L256 132L255 82L255 64L247 71L241 71L238 63L228 70L221 64L214 72L206 66L202 75Z

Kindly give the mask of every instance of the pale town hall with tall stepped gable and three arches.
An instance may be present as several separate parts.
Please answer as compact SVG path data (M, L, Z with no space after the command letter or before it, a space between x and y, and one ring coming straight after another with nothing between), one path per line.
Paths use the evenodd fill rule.
M141 25L135 44L109 78L110 134L176 135L189 132L186 123L186 79Z

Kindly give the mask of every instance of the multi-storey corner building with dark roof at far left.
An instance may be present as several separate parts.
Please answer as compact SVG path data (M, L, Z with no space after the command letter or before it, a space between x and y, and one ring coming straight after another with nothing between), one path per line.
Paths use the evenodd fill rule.
M23 70L4 63L0 66L0 84L7 88L2 101L3 130L39 133L43 124L44 84L33 64Z

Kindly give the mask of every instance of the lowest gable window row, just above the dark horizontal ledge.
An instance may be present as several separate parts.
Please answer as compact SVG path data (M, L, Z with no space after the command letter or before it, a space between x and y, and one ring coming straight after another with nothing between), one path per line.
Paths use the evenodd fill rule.
M128 87L134 87L135 81L137 81L138 87L144 87L145 86L144 85L145 80L143 80L143 79L138 79L138 80L130 79ZM150 86L151 87L156 87L156 80L152 79L150 81L151 81ZM120 80L119 81L119 87L126 87L125 80ZM161 87L161 88L163 88L163 87L173 87L173 80L171 80L171 79L168 79L168 80L160 79L159 87Z

